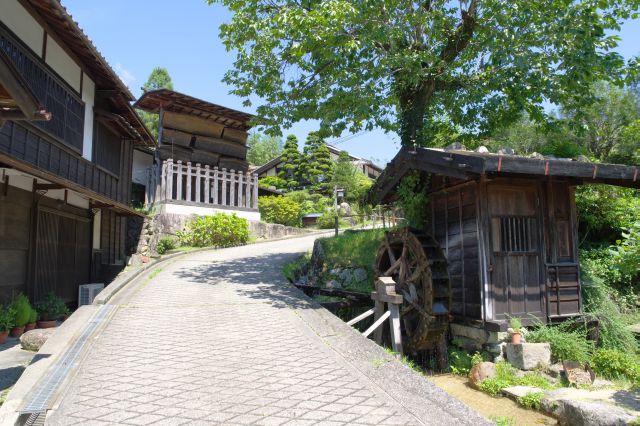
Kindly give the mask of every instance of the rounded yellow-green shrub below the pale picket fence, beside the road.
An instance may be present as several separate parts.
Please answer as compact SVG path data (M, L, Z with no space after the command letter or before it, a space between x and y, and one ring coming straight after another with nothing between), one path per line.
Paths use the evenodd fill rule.
M217 213L198 217L177 233L180 245L192 247L231 247L249 241L249 223L233 214Z

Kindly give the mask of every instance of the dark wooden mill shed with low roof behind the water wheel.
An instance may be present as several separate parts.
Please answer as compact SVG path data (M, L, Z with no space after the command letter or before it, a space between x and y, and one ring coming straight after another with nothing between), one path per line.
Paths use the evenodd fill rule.
M402 148L372 194L376 202L390 203L404 176L421 179L427 219L411 240L419 240L418 251L429 262L424 271L430 271L424 281L409 266L405 275L409 287L430 288L411 294L423 298L430 314L450 316L454 335L495 343L490 332L505 331L510 317L530 324L581 314L575 188L640 188L639 171L542 156ZM389 257L404 256L401 240L408 237L398 238L391 254L382 248L380 271L393 270ZM436 271L439 260L446 267Z

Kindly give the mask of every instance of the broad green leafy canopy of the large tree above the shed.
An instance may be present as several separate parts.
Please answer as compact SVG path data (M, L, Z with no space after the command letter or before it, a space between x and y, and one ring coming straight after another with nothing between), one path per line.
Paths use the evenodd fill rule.
M588 100L597 80L628 67L612 51L638 0L209 0L237 51L225 82L260 96L272 131L301 119L339 134L382 127L404 145L431 143L442 124L468 133L545 102ZM630 64L631 65L631 64ZM249 101L247 101L249 103Z

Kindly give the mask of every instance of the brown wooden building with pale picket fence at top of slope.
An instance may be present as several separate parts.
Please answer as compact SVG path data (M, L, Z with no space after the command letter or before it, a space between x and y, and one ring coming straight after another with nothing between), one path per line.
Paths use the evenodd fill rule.
M161 214L260 220L258 179L246 160L252 115L168 89L144 93L134 107L159 115L148 205Z

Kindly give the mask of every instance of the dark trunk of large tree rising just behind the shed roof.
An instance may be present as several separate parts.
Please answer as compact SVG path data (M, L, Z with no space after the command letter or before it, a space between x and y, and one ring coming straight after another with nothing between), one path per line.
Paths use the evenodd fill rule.
M426 146L424 118L435 88L434 81L423 81L416 87L399 89L400 141L402 146Z

